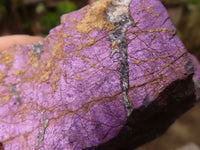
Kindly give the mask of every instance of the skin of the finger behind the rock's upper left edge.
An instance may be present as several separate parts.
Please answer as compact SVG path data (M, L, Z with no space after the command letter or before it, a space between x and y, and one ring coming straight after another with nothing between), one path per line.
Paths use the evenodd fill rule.
M41 41L43 38L40 36L30 35L9 35L0 37L0 52L6 50L8 47L18 44L24 45Z

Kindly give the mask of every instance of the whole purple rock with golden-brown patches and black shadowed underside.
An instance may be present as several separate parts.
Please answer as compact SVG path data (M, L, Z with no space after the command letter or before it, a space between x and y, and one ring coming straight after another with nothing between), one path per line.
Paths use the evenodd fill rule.
M159 1L100 0L62 16L43 41L0 53L0 142L132 149L162 134L199 89L198 61Z

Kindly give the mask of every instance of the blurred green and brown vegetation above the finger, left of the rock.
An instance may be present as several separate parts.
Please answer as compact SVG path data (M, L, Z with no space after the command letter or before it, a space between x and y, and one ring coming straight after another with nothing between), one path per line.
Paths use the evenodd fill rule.
M62 14L87 4L87 0L0 0L0 35L45 36Z

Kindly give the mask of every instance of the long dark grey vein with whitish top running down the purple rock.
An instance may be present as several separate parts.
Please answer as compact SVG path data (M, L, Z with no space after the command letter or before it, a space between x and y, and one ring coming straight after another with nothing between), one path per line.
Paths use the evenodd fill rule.
M133 110L132 105L128 99L129 66L127 60L128 54L126 31L130 25L135 26L135 23L129 15L129 3L130 1L128 0L112 0L111 3L108 5L108 10L104 14L105 19L115 25L115 29L108 36L108 40L113 45L117 45L117 48L111 52L110 56L112 57L115 53L120 54L120 57L117 59L117 61L120 61L121 64L118 71L120 72L121 76L120 85L122 89L124 107L127 112L126 118L128 118L131 115Z

